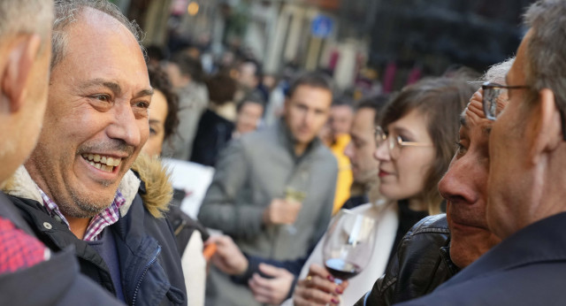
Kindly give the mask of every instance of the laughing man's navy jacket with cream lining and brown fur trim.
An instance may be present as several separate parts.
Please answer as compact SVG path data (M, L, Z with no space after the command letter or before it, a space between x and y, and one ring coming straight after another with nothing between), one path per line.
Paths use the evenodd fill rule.
M138 170L142 170L140 174L146 183L150 181L159 185L160 179L148 175L147 164L142 165ZM17 175L21 176L22 172L25 172L23 167L19 169ZM164 174L157 173L158 175ZM127 172L122 182L125 180L137 179L133 172ZM51 218L43 204L37 201L39 199L36 196L22 195L29 190L28 180L24 180L24 186L18 185L22 182L21 178L15 181L16 183L12 181L6 186L14 195L11 196L11 200L19 208L38 239L55 251L74 246L75 255L79 259L80 272L116 295L108 266L96 250L88 246L86 241L78 239L65 224ZM131 183L129 186L132 187ZM124 193L123 189L120 190ZM126 196L126 205L128 199L131 204L129 207L125 205L120 208L119 221L105 230L109 230L116 241L121 285L126 303L187 304L185 281L172 227L166 218L157 218L161 217L160 210L166 208L171 195L168 198L163 196L156 199L156 192L155 187L139 184L137 194L135 190L132 193L133 199ZM160 207L159 203L164 203L165 206Z

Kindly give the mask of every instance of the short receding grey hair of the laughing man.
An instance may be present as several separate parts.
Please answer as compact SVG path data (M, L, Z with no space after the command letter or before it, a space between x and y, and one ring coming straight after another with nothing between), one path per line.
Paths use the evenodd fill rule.
M55 0L55 21L53 22L53 36L51 39L53 50L51 69L65 57L67 45L65 28L77 21L80 18L80 13L85 8L102 11L117 19L134 35L135 40L140 45L143 56L146 56L145 48L142 46L142 29L135 20L128 20L115 4L111 4L107 0Z

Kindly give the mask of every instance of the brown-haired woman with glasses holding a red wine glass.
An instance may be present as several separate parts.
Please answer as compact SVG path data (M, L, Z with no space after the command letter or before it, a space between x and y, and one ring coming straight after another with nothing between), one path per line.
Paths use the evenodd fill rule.
M427 79L403 88L386 106L376 127L374 154L384 199L355 209L379 220L371 264L349 284L337 286L317 246L294 289L294 305L337 304L337 295L342 305L354 304L383 274L402 236L429 213L440 213L437 185L454 156L459 115L473 92L464 80Z

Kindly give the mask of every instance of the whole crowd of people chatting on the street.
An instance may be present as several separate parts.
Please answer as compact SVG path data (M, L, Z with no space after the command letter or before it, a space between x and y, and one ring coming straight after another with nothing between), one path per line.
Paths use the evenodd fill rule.
M524 19L480 78L354 102L324 72L154 57L107 0L4 0L0 304L564 304L566 3ZM197 218L162 157L214 169ZM376 224L342 281L340 210Z

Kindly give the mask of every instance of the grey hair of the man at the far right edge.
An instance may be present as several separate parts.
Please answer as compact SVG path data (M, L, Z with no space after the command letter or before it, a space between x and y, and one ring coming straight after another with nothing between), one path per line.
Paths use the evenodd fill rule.
M531 100L542 88L555 94L561 111L566 110L566 1L545 0L532 4L524 14L531 27L526 46L526 85L532 88ZM524 85L524 84L513 84Z

